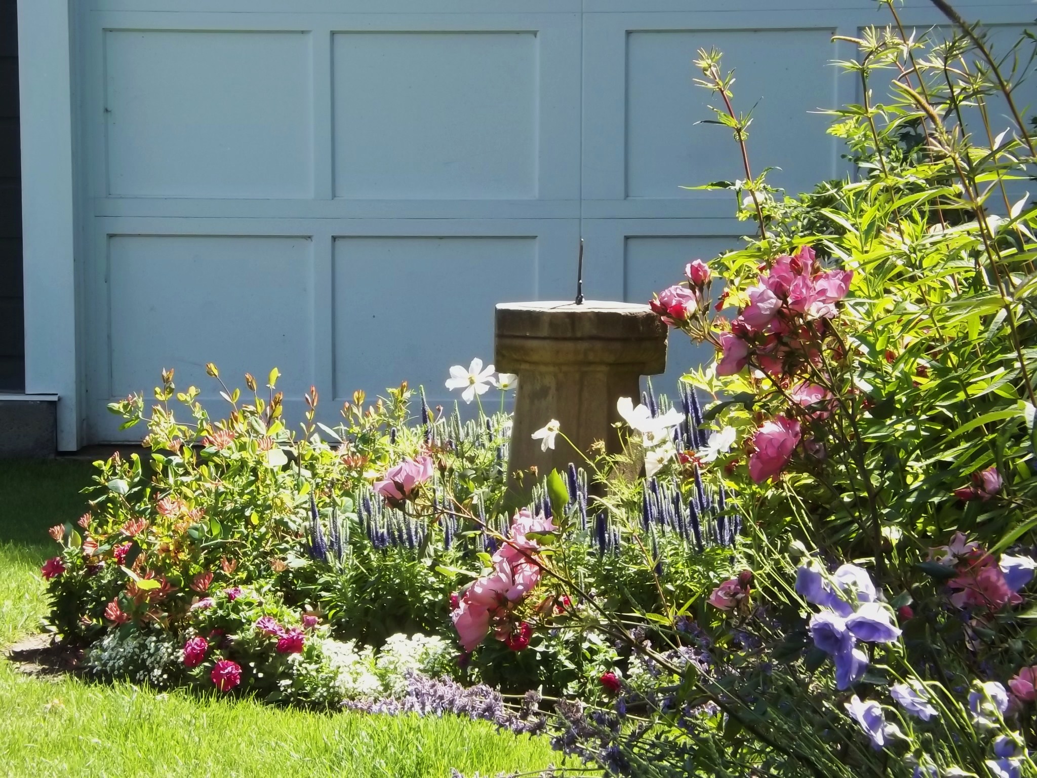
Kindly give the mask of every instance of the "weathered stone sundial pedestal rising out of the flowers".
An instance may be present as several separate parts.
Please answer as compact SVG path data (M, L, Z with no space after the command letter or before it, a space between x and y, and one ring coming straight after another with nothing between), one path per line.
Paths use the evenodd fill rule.
M561 437L546 451L532 438L552 419L585 453L594 441L619 452L616 400L630 397L637 405L641 377L666 370L667 328L660 317L647 305L588 300L504 303L496 319L497 369L518 376L509 480L531 466L544 475L580 463Z

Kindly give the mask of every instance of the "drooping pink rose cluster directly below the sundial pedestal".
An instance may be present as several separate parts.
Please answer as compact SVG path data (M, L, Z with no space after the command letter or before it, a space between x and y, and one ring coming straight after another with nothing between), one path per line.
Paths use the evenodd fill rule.
M532 630L526 633L525 628L520 627L515 634L508 615L540 582L541 569L535 556L540 547L528 535L557 529L550 519L534 518L528 509L515 513L511 520L511 536L494 554L494 571L476 579L451 613L466 651L481 643L492 626L498 640L510 641L516 650L529 644Z

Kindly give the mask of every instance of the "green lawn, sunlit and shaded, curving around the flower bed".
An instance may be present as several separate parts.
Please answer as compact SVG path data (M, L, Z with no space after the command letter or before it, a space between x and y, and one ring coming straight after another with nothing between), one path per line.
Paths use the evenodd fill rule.
M0 462L0 645L46 611L47 528L85 509L82 462ZM526 772L554 758L544 739L456 717L316 714L251 700L157 693L131 684L26 676L0 660L0 775L439 778Z

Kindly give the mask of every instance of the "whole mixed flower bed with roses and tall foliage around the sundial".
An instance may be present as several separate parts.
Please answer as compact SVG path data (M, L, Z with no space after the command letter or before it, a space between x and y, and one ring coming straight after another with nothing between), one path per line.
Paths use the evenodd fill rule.
M276 371L222 419L169 373L113 408L151 456L52 530L53 628L99 673L461 713L617 774L1033 775L1037 207L1008 191L1037 154L973 28L923 51L891 11L833 112L862 175L798 198L700 52L746 174L709 186L759 237L652 301L718 360L621 399L621 453L539 420L572 465L512 504L482 399L516 380L480 360L447 382L469 420L403 385L334 427L311 391L297 432Z

